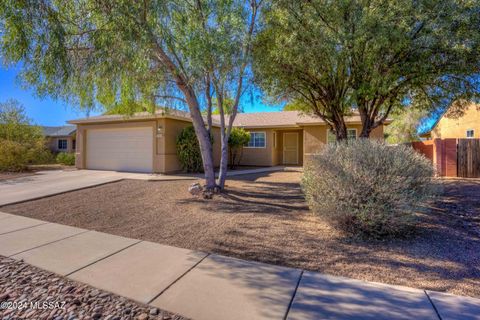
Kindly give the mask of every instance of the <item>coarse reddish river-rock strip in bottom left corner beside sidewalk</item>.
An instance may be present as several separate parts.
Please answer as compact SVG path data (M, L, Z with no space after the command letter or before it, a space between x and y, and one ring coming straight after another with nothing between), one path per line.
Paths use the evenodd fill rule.
M3 320L185 319L2 256L0 303Z

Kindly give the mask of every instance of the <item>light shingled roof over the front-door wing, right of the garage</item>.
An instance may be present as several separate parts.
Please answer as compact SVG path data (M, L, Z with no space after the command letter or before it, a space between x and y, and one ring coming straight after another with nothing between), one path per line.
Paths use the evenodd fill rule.
M219 121L220 116L214 115L214 119ZM358 113L345 117L345 121L350 124L362 122ZM385 124L390 122L391 120L387 119ZM325 121L300 111L238 113L233 122L234 126L245 128L298 127L316 124L325 124Z

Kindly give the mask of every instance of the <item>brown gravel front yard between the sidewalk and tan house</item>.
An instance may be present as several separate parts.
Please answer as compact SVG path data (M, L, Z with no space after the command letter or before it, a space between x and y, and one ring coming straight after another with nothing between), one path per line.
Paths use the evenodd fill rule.
M480 180L446 180L412 239L344 238L305 204L299 172L239 176L212 200L192 181L125 180L0 211L243 259L480 297Z

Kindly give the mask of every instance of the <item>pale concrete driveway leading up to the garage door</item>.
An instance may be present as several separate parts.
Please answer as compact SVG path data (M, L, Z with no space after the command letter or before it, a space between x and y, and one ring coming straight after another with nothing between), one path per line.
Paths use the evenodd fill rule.
M119 181L129 175L135 176L113 171L40 171L33 176L0 181L0 206Z

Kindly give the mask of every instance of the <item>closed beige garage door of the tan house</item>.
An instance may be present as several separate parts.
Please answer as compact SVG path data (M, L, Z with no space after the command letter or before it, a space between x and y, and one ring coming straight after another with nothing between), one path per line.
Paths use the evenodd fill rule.
M151 127L87 130L88 169L152 172Z

